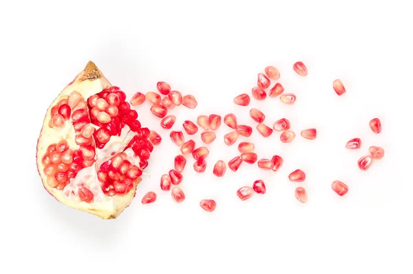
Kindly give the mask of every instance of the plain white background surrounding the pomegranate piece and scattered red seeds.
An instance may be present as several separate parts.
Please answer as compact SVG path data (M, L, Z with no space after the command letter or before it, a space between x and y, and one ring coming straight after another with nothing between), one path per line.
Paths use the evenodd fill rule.
M1 2L2 273L412 273L407 1L240 2ZM249 107L232 100L274 65L296 104L268 98L250 106L266 114L268 125L290 119L297 138L282 144L279 133L264 140L255 130L259 157L282 155L282 169L243 163L217 179L213 163L237 155L236 145L224 145L229 128L221 126L207 172L195 174L189 159L181 185L187 199L176 204L158 185L178 147L142 105L140 121L163 137L147 169L151 177L116 220L78 212L45 192L35 148L47 106L88 60L129 98L153 91L159 80L195 95L197 109L171 112L178 130L184 119L229 112L255 130ZM293 72L297 60L308 77ZM335 78L348 91L340 98L332 91ZM368 128L372 117L383 122L380 135ZM299 136L310 127L318 129L315 141ZM344 148L352 137L361 137L361 150ZM385 148L385 157L361 172L357 159L374 145ZM296 168L307 173L304 183L288 181ZM240 201L237 188L257 179L267 193ZM346 196L332 192L335 180L349 185ZM298 185L308 190L306 205L295 200ZM149 190L158 201L142 205ZM199 207L202 198L217 201L215 212Z

